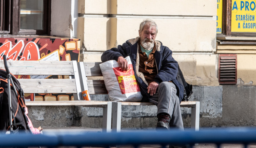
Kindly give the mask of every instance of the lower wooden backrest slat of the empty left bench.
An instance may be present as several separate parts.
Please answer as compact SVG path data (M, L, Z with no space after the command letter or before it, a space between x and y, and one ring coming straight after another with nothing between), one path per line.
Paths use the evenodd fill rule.
M75 79L18 79L24 93L77 93Z

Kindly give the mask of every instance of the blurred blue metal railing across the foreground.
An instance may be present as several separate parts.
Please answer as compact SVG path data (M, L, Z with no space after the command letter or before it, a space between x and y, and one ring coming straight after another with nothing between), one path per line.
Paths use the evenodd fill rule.
M195 143L256 143L256 128L203 129L200 131L131 131L121 133L0 134L0 147L113 146Z

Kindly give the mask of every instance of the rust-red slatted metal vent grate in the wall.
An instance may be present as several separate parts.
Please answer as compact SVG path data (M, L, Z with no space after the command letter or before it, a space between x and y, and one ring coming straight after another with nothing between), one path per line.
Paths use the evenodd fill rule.
M237 84L237 54L219 55L219 84Z

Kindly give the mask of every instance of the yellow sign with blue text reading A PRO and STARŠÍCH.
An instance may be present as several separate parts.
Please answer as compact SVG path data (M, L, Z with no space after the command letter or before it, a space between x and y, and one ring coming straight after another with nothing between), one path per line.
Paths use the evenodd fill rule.
M256 32L255 0L232 0L231 32Z

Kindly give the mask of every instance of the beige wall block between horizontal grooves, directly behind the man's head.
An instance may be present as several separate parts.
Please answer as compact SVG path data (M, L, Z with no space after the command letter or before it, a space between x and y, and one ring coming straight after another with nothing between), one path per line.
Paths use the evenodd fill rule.
M142 20L143 18L117 18L117 45L122 45L126 40L139 36L139 24ZM172 51L216 51L216 33L214 32L216 20L179 18L153 20L158 25L156 40L161 41Z

